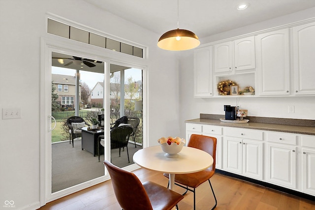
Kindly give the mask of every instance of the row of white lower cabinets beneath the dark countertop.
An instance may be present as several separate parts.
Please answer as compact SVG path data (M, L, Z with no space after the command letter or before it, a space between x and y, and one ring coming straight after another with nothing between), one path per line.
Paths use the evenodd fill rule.
M217 138L216 168L315 196L315 136L187 123Z

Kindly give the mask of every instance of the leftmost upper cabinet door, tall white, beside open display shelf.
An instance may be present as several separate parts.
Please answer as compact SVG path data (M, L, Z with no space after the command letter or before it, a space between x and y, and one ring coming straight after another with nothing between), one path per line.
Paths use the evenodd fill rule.
M194 51L194 96L213 95L212 46Z

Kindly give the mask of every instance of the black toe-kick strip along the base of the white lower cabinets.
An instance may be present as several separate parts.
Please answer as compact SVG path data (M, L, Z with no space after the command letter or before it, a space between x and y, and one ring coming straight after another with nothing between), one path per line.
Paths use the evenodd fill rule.
M281 191L281 192L284 192L284 193L287 193L287 194L290 194L290 195L295 195L295 196L298 196L298 197L301 197L301 198L305 198L305 199L308 199L308 200L311 200L311 201L315 201L315 196L312 196L312 195L309 195L309 194L305 194L303 192L295 191L295 190L292 190L292 189L288 189L288 188L285 188L285 187L282 187L282 186L278 186L278 185L275 185L275 184L271 184L271 183L268 183L268 182L255 180L255 179L244 177L244 176L241 176L241 175L238 175L238 174L233 174L233 173L230 173L230 172L227 172L227 171L222 171L220 169L216 169L216 173L223 174L223 175L226 175L226 176L229 176L229 177L233 177L233 178L236 178L236 179L239 179L239 180L249 181L249 182L252 182L254 184L258 184L258 185L261 185L261 186L264 186L264 187L268 187L268 188L271 188L271 189L274 189L274 190L278 190L278 191Z

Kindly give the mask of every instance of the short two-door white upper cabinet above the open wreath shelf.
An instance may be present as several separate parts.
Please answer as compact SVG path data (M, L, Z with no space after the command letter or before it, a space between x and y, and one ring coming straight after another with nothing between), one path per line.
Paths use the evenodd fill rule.
M255 68L254 37L215 45L215 73Z

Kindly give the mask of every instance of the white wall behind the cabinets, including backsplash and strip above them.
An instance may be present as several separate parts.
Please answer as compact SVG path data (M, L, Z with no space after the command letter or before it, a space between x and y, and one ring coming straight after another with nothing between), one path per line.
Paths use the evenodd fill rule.
M315 7L240 29L215 34L201 39L201 44L274 28L314 17ZM199 118L200 113L223 115L223 105L236 105L236 98L193 97L193 51L187 51L181 55L179 72L179 81L181 81L180 126L182 136L185 136L185 120ZM249 116L257 117L315 120L314 104L315 97L238 98L238 105L243 109L247 109ZM288 105L295 106L295 113L288 113Z

